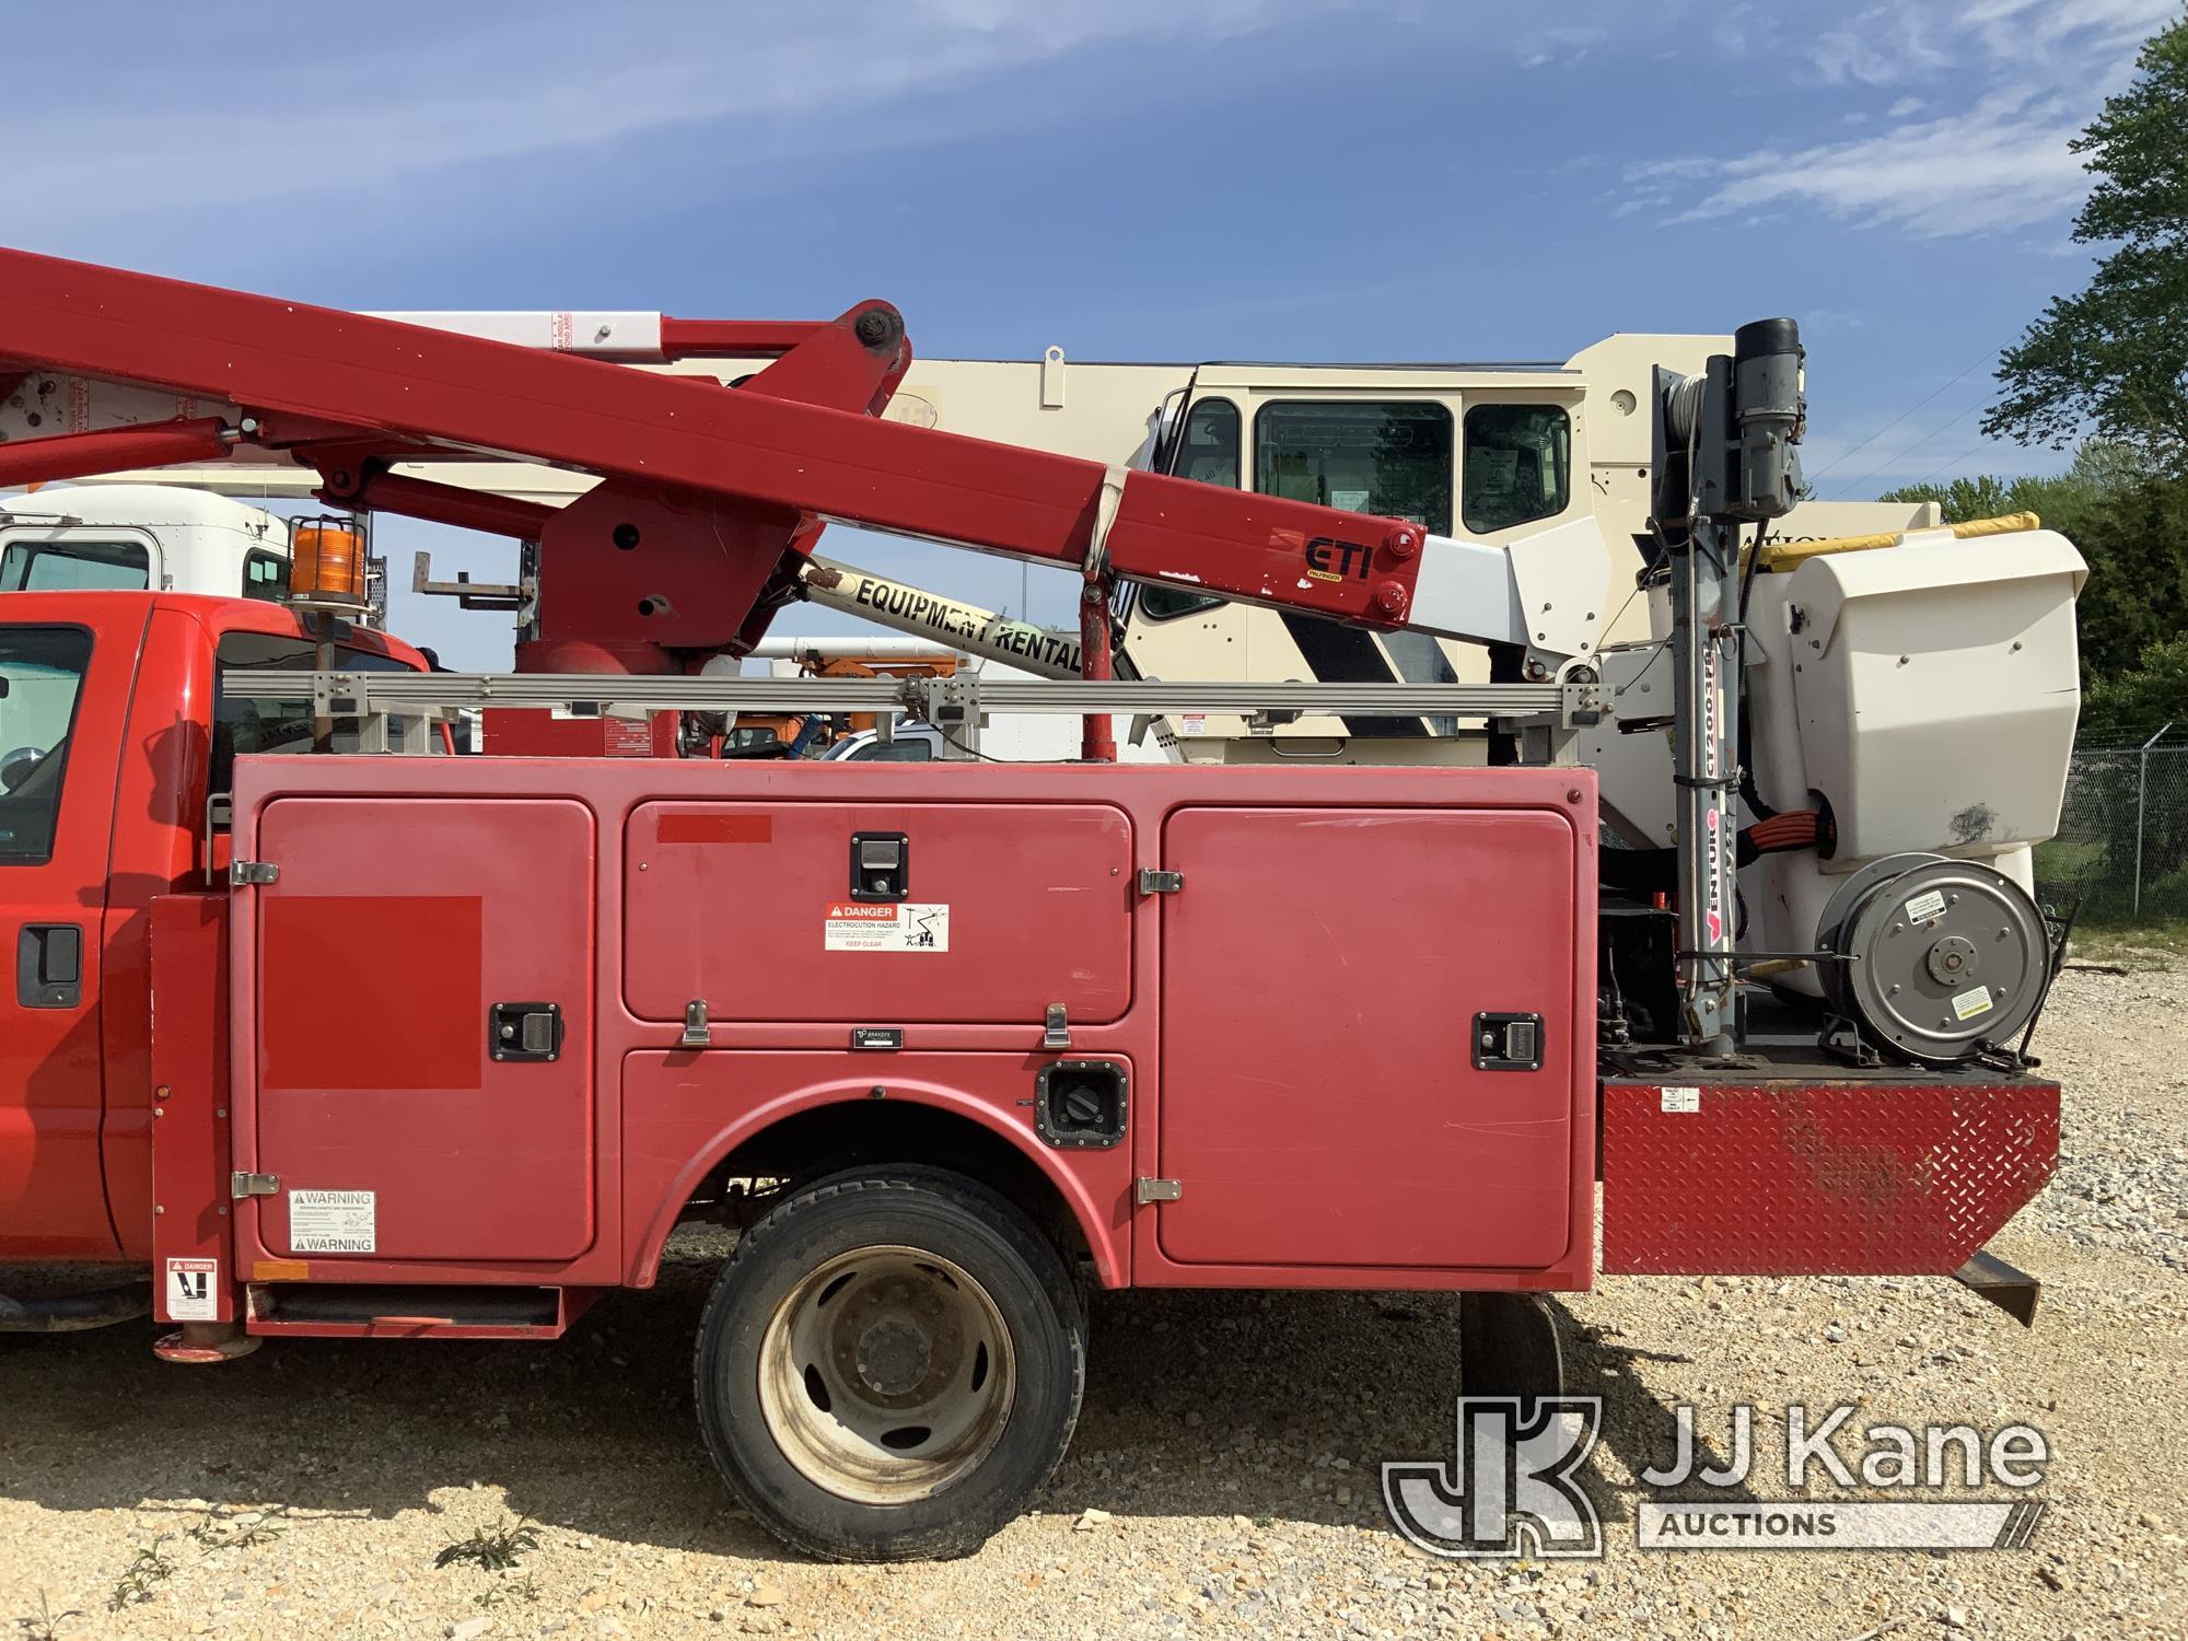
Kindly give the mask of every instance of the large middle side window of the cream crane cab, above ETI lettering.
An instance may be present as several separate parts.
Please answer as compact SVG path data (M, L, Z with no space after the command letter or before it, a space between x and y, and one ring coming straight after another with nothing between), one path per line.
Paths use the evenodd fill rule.
M1262 405L1254 488L1448 536L1451 411L1416 400Z

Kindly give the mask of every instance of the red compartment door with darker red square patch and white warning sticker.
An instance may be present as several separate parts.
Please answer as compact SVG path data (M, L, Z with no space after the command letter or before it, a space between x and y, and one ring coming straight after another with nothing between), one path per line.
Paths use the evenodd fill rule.
M249 910L271 1258L562 1260L593 1243L593 816L567 799L276 799ZM488 1009L551 1002L551 1061ZM249 1031L249 1026L247 1026ZM306 1227L291 1234L302 1197ZM346 1192L346 1195L324 1195ZM370 1192L370 1201L365 1195ZM346 1245L348 1243L348 1245ZM357 1245L370 1243L370 1247Z

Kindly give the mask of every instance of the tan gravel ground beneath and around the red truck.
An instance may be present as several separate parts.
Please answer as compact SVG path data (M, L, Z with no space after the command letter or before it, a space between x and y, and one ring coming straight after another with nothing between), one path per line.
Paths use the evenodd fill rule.
M698 1258L556 1346L276 1341L164 1368L147 1328L0 1341L0 1630L61 1637L2188 1634L2188 969L2070 969L2039 1035L2068 1162L1995 1243L2033 1332L1943 1280L1613 1278L1564 1302L1606 1398L1602 1562L1442 1562L1389 1529L1385 1457L1451 1442L1444 1295L1096 1295L1087 1411L980 1556L781 1553L698 1446ZM2039 1424L2026 1551L1665 1556L1634 1473L1694 1403ZM1759 1429L1759 1497L1772 1433ZM1777 1448L1781 1451L1781 1446ZM1777 1483L1783 1466L1777 1464ZM516 1567L435 1567L525 1518ZM131 1573L136 1569L136 1573ZM109 1597L142 1599L109 1610Z

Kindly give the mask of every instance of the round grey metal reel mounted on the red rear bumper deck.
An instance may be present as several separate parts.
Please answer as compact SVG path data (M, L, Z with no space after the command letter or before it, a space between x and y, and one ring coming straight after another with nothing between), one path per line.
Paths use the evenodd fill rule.
M1950 1066L2002 1046L2050 987L2050 928L2028 893L1974 860L1904 853L1853 873L1825 906L1825 996L1869 1037Z

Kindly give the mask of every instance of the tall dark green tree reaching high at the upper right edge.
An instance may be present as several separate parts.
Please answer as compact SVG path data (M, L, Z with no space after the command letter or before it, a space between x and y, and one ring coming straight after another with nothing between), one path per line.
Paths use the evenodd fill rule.
M2094 427L2188 475L2188 18L2072 147L2096 177L2074 241L2111 249L2000 357L1982 431L2065 449Z

